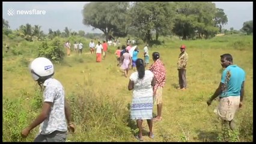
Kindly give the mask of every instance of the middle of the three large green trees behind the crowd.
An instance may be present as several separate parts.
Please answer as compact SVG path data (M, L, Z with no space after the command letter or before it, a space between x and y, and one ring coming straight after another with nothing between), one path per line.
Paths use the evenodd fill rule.
M174 11L170 2L134 2L130 10L132 27L144 41L152 41L152 32L159 35L171 33Z

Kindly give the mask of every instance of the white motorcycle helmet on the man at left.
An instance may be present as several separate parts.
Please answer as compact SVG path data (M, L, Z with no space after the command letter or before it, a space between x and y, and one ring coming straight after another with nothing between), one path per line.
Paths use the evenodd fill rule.
M54 74L52 62L43 57L34 59L29 65L29 71L35 81L45 80Z

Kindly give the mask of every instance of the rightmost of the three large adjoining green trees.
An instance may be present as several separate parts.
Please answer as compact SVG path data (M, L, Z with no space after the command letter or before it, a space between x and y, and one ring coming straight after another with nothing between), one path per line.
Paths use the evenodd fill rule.
M184 40L187 38L209 38L219 28L215 25L215 4L212 2L174 2L175 24L172 31Z

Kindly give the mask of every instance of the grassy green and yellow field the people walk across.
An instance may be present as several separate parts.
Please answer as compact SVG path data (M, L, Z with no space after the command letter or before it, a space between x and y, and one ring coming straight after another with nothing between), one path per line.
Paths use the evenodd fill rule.
M239 131L233 141L252 142L252 35L227 35L211 40L179 41L160 38L162 45L150 47L151 53L159 52L166 68L166 84L163 88L162 121L153 123L154 139L147 136L147 122L143 122L144 141L147 142L218 142L221 140L221 122L213 110L218 101L207 106L207 99L218 88L222 67L220 55L230 53L234 64L246 71L244 106L236 114ZM9 53L3 48L3 141L32 141L38 133L35 128L22 139L22 128L30 124L40 112L41 93L28 71L28 64L35 58L40 42L4 40L14 47ZM90 41L90 40L85 40ZM72 42L72 41L71 41ZM124 39L121 40L124 42ZM121 43L124 44L124 43ZM186 91L178 86L177 59L179 46L186 44L189 55ZM72 104L76 133L69 134L72 142L124 142L137 141L135 121L129 120L129 103L132 91L128 91L129 78L117 67L114 56L116 47L109 51L100 63L91 55L88 43L84 43L82 55L72 52L61 64L55 64L55 75L66 90ZM139 44L142 58L143 44ZM135 70L129 71L130 74ZM156 115L156 106L153 109Z

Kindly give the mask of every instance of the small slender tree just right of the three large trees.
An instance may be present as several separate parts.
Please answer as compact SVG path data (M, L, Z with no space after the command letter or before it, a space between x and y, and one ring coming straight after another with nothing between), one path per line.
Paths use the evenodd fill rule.
M228 17L224 13L224 10L221 8L216 8L214 20L215 20L215 25L219 27L219 32L221 32L222 27L228 23Z

